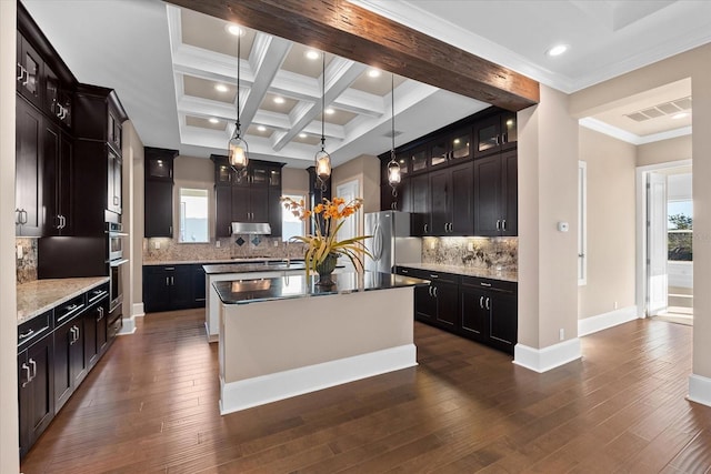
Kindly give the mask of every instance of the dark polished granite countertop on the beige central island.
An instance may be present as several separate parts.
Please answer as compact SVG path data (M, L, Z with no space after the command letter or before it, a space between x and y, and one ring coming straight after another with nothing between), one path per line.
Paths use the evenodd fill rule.
M318 275L284 275L271 279L222 281L212 283L220 300L226 304L248 304L332 294L357 293L361 291L391 290L398 288L427 285L429 281L391 273L356 272L334 273L336 285L321 288L314 283Z

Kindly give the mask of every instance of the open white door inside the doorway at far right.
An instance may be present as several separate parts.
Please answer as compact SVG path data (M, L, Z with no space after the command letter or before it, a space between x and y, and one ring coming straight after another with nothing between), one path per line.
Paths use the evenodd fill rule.
M667 175L649 173L647 180L647 314L667 310Z

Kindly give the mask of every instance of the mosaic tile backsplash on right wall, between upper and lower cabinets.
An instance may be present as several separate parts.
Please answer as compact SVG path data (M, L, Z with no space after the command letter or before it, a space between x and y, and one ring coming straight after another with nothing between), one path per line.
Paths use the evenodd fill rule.
M517 271L518 238L423 238L422 263Z

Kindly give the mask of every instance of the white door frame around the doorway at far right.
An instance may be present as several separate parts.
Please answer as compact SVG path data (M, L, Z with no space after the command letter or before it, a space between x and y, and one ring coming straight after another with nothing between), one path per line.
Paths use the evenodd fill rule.
M669 161L664 163L648 164L637 167L635 169L635 188L637 188L637 307L640 317L648 317L647 296L648 296L648 264L647 264L647 174L654 171L668 170L670 168L691 167L691 160Z

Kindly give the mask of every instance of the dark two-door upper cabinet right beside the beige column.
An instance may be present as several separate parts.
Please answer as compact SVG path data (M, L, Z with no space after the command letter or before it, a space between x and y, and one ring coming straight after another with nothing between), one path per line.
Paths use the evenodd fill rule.
M474 161L474 234L518 234L515 150Z

